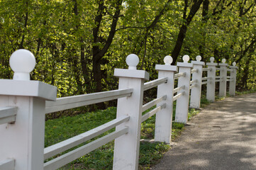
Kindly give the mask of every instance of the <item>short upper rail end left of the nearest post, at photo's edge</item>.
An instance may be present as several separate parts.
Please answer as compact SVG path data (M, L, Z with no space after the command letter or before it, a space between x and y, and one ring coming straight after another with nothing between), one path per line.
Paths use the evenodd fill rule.
M0 108L0 125L4 123L14 123L16 120L17 107Z

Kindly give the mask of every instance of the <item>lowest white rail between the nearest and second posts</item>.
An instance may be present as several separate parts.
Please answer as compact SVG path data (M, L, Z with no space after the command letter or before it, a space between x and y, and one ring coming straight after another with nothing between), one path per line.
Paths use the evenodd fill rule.
M72 162L75 159L82 157L84 154L87 154L93 151L94 149L97 149L102 145L106 145L106 143L111 142L112 140L116 139L116 137L125 135L127 132L128 132L128 127L124 127L120 130L116 130L115 132L111 132L110 134L104 137L101 137L97 140L94 140L93 142L90 142L87 145L74 149L71 152L67 152L67 154L63 154L60 157L57 157L55 159L52 159L49 162L46 162L44 164L43 169L44 170L58 169L61 166L64 166L65 164L68 164L69 162Z

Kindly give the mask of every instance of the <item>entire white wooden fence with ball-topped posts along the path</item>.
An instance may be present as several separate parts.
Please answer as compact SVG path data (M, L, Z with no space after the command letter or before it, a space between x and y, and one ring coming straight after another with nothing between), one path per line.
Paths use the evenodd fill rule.
M96 94L84 94L57 98L57 88L40 81L30 81L29 73L35 67L35 58L28 50L17 50L10 58L13 80L0 79L0 169L1 170L43 170L58 169L74 159L115 140L113 169L138 169L140 147L140 125L156 114L155 141L169 143L172 134L172 108L177 101L175 121L187 123L190 107L200 108L201 86L207 84L207 99L214 101L215 84L220 83L220 96L226 96L226 82L230 81L229 93L235 95L235 63L228 69L223 60L221 64L206 63L197 56L189 63L170 65L172 57L165 57L165 64L157 64L158 79L144 83L149 79L148 72L136 69L137 55L128 55L128 69L115 69L114 76L119 77L118 90ZM216 68L219 65L220 68ZM179 72L176 73L178 71ZM216 70L220 76L216 77ZM202 77L206 71L208 76ZM227 76L230 72L230 76ZM178 80L174 88L174 81ZM157 98L143 105L143 91L157 86ZM190 94L191 92L191 94ZM116 119L89 130L68 140L44 148L45 114L63 111L69 108L87 106L94 103L118 98ZM142 115L143 111L152 108ZM45 159L60 154L93 137L116 128L104 137L73 149L60 157L45 162Z

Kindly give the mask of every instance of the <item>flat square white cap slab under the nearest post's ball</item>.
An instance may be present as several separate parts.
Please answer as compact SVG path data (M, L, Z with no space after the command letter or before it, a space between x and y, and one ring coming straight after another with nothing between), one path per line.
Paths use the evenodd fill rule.
M8 88L6 88L8 87ZM8 96L33 96L55 101L57 87L41 81L0 79L0 94Z

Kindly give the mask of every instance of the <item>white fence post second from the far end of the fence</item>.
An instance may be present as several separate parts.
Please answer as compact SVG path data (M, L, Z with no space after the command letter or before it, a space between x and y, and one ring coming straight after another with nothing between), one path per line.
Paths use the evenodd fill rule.
M218 65L221 67L220 70L220 77L222 78L220 80L220 91L218 96L220 97L226 97L227 92L227 67L228 64L226 64L226 59L221 60L222 63L219 63Z

